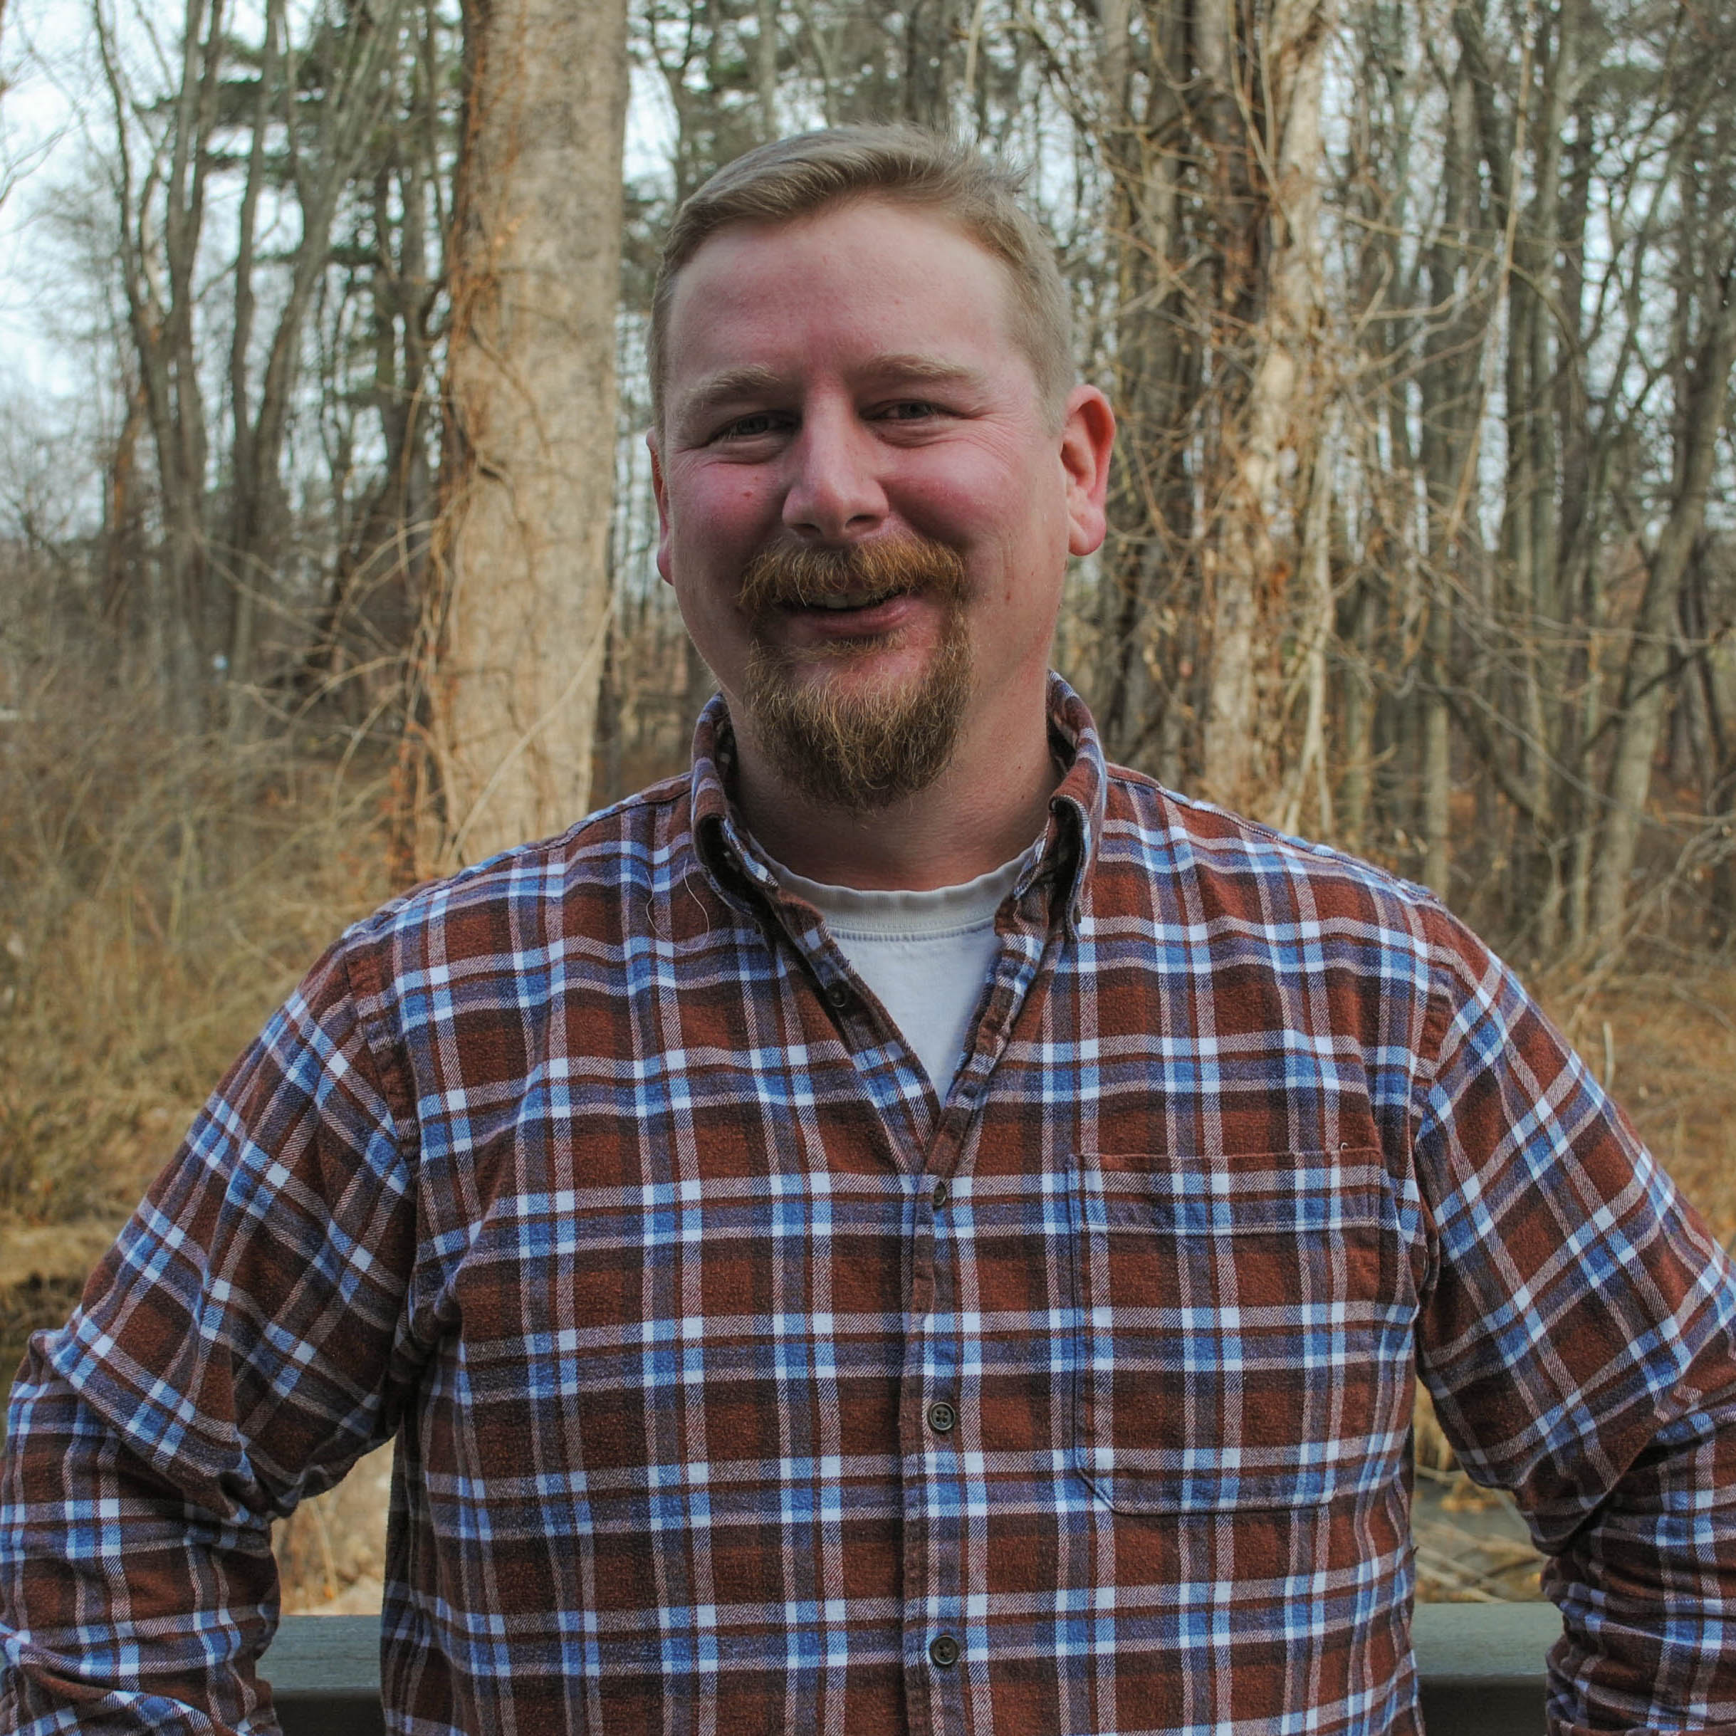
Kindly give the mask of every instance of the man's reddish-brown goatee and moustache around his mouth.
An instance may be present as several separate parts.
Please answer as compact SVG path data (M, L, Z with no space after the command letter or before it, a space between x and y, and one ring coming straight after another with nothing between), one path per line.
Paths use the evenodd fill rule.
M802 681L797 660L759 628L779 609L899 592L932 597L943 615L934 656L898 686L854 691L845 682ZM965 569L955 550L917 538L852 549L764 549L743 575L741 608L755 620L743 703L788 783L825 807L875 812L939 778L970 696ZM849 663L896 642L887 634L845 637L806 656Z

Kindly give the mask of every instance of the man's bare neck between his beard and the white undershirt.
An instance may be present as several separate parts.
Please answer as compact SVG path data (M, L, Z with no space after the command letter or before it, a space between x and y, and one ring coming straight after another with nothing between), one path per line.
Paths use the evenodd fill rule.
M1010 861L1042 833L1059 781L1047 719L1019 741L960 752L917 795L873 812L828 807L792 790L736 731L736 806L786 868L865 892L962 885Z

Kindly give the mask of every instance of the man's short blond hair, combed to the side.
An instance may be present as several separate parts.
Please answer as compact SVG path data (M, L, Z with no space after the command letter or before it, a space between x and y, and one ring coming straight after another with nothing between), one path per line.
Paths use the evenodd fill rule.
M663 241L648 345L656 425L663 425L668 311L681 267L731 224L793 222L852 200L932 212L1002 262L1012 286L1014 340L1059 422L1076 378L1073 316L1049 236L1019 203L1021 186L1012 170L920 127L830 127L738 156L682 201Z

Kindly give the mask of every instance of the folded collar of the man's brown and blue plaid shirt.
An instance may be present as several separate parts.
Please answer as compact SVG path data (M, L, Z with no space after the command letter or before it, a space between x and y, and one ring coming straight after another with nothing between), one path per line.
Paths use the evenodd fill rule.
M1102 743L1085 701L1055 674L1049 677L1049 741L1062 766L1049 799L1043 849L1014 889L1017 898L1043 887L1050 910L1078 922L1090 870L1102 838L1108 774ZM733 904L748 906L776 896L778 882L746 845L729 799L734 783L736 736L720 693L700 712L693 731L693 840L701 866Z

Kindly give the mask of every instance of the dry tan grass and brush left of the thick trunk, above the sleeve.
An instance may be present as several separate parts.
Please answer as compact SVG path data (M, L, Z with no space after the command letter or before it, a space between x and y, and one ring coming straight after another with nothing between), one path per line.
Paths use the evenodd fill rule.
M21 701L21 703L19 703ZM0 1222L128 1208L224 1068L385 896L385 783L165 727L61 665L0 717Z

